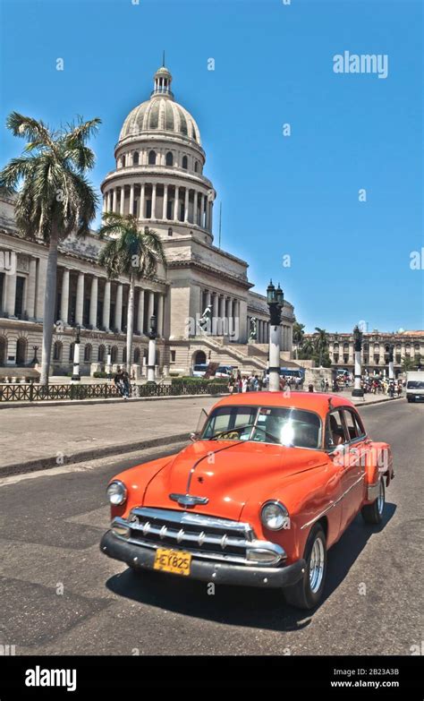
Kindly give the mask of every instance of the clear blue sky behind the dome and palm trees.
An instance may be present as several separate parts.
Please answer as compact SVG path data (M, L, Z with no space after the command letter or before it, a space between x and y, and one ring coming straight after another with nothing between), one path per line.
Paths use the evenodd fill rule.
M1 114L102 118L96 187L162 50L199 124L222 245L308 330L423 328L420 0L3 0ZM388 56L388 75L333 56ZM56 59L64 71L56 71ZM208 59L215 71L208 71ZM292 134L284 137L283 125ZM2 127L1 163L23 141ZM359 201L366 190L367 201ZM284 255L290 267L284 267Z

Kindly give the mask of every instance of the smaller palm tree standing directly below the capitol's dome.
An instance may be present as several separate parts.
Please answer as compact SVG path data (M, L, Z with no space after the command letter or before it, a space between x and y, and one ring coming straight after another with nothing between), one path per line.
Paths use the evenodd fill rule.
M156 231L148 227L140 231L137 218L132 214L103 215L100 238L110 239L98 256L104 265L109 279L118 275L128 275L130 292L127 310L127 372L131 370L132 336L134 333L134 287L136 278L153 278L157 265L166 265L165 252Z

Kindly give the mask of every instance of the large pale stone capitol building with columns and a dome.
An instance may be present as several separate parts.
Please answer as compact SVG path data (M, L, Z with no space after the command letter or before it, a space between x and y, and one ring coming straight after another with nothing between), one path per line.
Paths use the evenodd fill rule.
M205 163L199 126L174 100L172 75L162 66L150 97L125 118L114 170L101 184L103 211L133 214L140 227L157 231L165 249L166 267L136 283L131 364L137 375L145 374L152 315L157 376L187 374L195 363L209 361L246 372L267 368L266 297L252 290L248 263L214 244L216 191ZM59 245L53 374L71 371L77 326L82 374L104 370L108 352L115 365L126 362L129 279L107 279L98 264L103 245L95 231ZM13 197L0 193L3 260L11 252L14 266L0 267L0 367L41 357L47 269L46 244L19 235ZM282 361L292 357L293 321L293 305L284 301Z

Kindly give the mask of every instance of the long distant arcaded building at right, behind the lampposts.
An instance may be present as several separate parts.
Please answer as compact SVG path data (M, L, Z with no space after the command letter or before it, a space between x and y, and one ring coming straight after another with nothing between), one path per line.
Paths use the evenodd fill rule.
M312 341L317 334L305 334L305 339ZM388 374L390 346L394 346L394 372L402 372L404 358L422 363L424 366L424 331L398 331L384 333L373 330L363 333L360 354L363 372L370 374ZM354 347L352 333L329 333L328 354L332 366L353 372Z

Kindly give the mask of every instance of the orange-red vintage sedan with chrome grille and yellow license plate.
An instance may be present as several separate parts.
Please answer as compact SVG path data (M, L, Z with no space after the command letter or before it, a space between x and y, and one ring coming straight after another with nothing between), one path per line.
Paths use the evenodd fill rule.
M328 548L359 512L382 520L389 445L348 399L287 391L221 399L192 440L109 483L101 550L136 570L280 587L316 606Z

